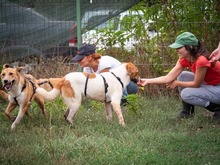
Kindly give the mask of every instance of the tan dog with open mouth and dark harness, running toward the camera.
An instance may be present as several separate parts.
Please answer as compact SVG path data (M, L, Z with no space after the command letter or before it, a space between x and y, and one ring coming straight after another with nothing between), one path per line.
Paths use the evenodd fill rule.
M5 64L1 72L1 80L3 89L8 93L8 107L5 110L6 116L13 122L11 129L20 122L24 114L28 115L28 109L31 101L35 100L39 107L46 115L44 99L39 94L36 94L36 80L31 75L20 74L23 67L11 68ZM11 111L19 106L17 117L11 115Z

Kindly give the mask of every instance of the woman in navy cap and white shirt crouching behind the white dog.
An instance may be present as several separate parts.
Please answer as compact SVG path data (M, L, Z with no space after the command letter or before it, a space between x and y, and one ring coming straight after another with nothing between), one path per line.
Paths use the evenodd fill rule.
M116 68L121 65L121 62L111 56L101 56L95 51L95 46L91 44L83 44L75 57L74 62L79 63L86 73L102 73L108 72L110 69ZM123 91L121 104L127 103L126 96L128 94L135 94L138 92L138 86L130 81L126 89Z

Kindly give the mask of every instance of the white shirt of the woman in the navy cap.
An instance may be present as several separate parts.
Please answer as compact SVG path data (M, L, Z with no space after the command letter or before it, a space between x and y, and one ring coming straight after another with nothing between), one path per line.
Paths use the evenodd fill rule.
M99 59L99 65L98 65L98 69L96 72L90 67L84 67L83 72L100 73L101 70L103 69L106 69L106 68L113 69L113 68L118 67L119 65L121 65L121 62L118 61L117 59L111 56L101 56L101 58Z

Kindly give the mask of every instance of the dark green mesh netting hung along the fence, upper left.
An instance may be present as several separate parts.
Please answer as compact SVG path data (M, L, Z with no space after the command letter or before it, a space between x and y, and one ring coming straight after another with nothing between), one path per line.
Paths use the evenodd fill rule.
M81 33L84 33L140 0L79 2ZM76 6L76 0L0 0L0 62L30 55L74 53L77 49Z

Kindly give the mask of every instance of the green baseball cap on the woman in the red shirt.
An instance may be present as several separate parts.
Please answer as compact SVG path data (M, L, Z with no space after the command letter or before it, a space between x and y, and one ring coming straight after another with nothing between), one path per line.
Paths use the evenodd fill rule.
M170 48L181 48L184 45L198 45L198 39L196 36L190 32L184 32L176 37L176 40L173 44L171 44Z

